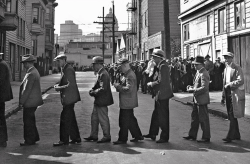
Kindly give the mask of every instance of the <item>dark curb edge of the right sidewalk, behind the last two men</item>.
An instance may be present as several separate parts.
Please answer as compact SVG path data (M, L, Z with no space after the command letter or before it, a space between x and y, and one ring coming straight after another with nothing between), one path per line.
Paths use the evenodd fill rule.
M178 99L175 99L175 98L173 98L172 100L177 101L177 102L180 102L180 103L182 103L182 104L184 104L184 105L193 106L193 102L190 102L190 101L184 102L184 101L181 101L181 100L178 100ZM227 113L221 111L220 109L212 109L212 108L209 108L209 105L208 105L208 113L213 114L213 115L218 116L218 117L221 117L221 118L224 118L224 119L228 119ZM250 122L250 116L246 116L246 115L245 115L245 117L244 117L243 119L244 119L245 121Z

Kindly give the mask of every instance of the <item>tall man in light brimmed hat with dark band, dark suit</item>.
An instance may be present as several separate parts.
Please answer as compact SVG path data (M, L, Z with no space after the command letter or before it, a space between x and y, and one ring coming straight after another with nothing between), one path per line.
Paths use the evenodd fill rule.
M169 66L164 60L164 51L154 49L152 56L157 65L157 72L153 82L149 82L147 85L154 90L155 108L151 117L149 134L144 135L144 137L155 140L159 128L161 128L160 139L156 143L164 143L169 140L169 99L173 97L173 92L170 86Z

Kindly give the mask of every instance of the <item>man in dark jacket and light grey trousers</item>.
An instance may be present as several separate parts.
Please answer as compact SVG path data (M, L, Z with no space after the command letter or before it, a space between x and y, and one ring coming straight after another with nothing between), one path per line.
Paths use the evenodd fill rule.
M89 91L89 95L95 98L91 115L91 134L88 138L84 138L87 141L97 141L100 123L103 130L103 138L97 141L97 143L111 141L108 106L114 103L110 89L109 73L104 69L103 62L104 60L100 56L93 58L93 69L97 72L98 78L95 86Z

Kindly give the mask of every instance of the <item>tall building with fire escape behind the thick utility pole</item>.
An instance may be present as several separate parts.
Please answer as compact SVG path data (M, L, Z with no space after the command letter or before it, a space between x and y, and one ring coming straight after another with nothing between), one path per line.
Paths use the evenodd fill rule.
M148 60L155 48L164 49L164 10L162 0L131 0L131 27L127 37L127 54L131 60ZM179 0L169 0L171 55L181 53L181 34L177 15Z

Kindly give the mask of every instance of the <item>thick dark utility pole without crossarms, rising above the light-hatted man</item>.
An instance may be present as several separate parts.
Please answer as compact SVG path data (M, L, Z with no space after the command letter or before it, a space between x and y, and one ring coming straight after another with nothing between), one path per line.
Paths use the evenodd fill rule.
M165 32L165 41L164 41L164 52L166 58L171 58L171 46L170 46L170 26L169 26L169 1L163 0L163 10L164 10L164 32Z

